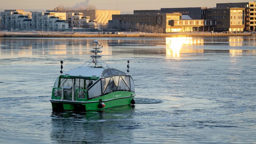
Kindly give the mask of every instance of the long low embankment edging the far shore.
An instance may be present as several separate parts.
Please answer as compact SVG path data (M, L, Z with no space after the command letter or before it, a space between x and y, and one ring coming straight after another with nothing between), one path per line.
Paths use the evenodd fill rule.
M192 36L256 36L255 33L230 33L230 34L0 34L0 37L192 37Z

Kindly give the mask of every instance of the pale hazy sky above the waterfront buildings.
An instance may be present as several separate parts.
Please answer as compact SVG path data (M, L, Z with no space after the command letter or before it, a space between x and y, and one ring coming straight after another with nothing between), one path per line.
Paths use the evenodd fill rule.
M75 6L81 2L96 5L98 10L120 10L122 13L133 10L152 10L172 7L215 7L216 3L253 2L253 0L0 0L0 10L24 9L45 11L63 4Z

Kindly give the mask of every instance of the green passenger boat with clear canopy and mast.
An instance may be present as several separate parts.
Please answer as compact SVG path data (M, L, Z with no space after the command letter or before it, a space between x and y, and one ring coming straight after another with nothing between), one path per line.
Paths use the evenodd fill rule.
M102 61L98 53L103 46L97 40L93 42L96 44L91 52L95 55L85 63L87 66L84 64L65 73L60 71L52 88L52 110L99 110L135 103L132 76Z

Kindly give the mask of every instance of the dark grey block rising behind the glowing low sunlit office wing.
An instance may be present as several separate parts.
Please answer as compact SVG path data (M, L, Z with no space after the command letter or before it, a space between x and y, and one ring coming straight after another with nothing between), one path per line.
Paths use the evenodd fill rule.
M161 8L161 13L179 12L182 15L188 15L194 20L205 19L207 7L186 7L186 8Z

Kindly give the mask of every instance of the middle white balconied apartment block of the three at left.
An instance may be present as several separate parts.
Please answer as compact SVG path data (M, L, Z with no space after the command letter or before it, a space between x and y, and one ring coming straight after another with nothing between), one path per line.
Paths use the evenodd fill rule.
M32 12L32 29L56 30L59 28L68 28L65 12Z

